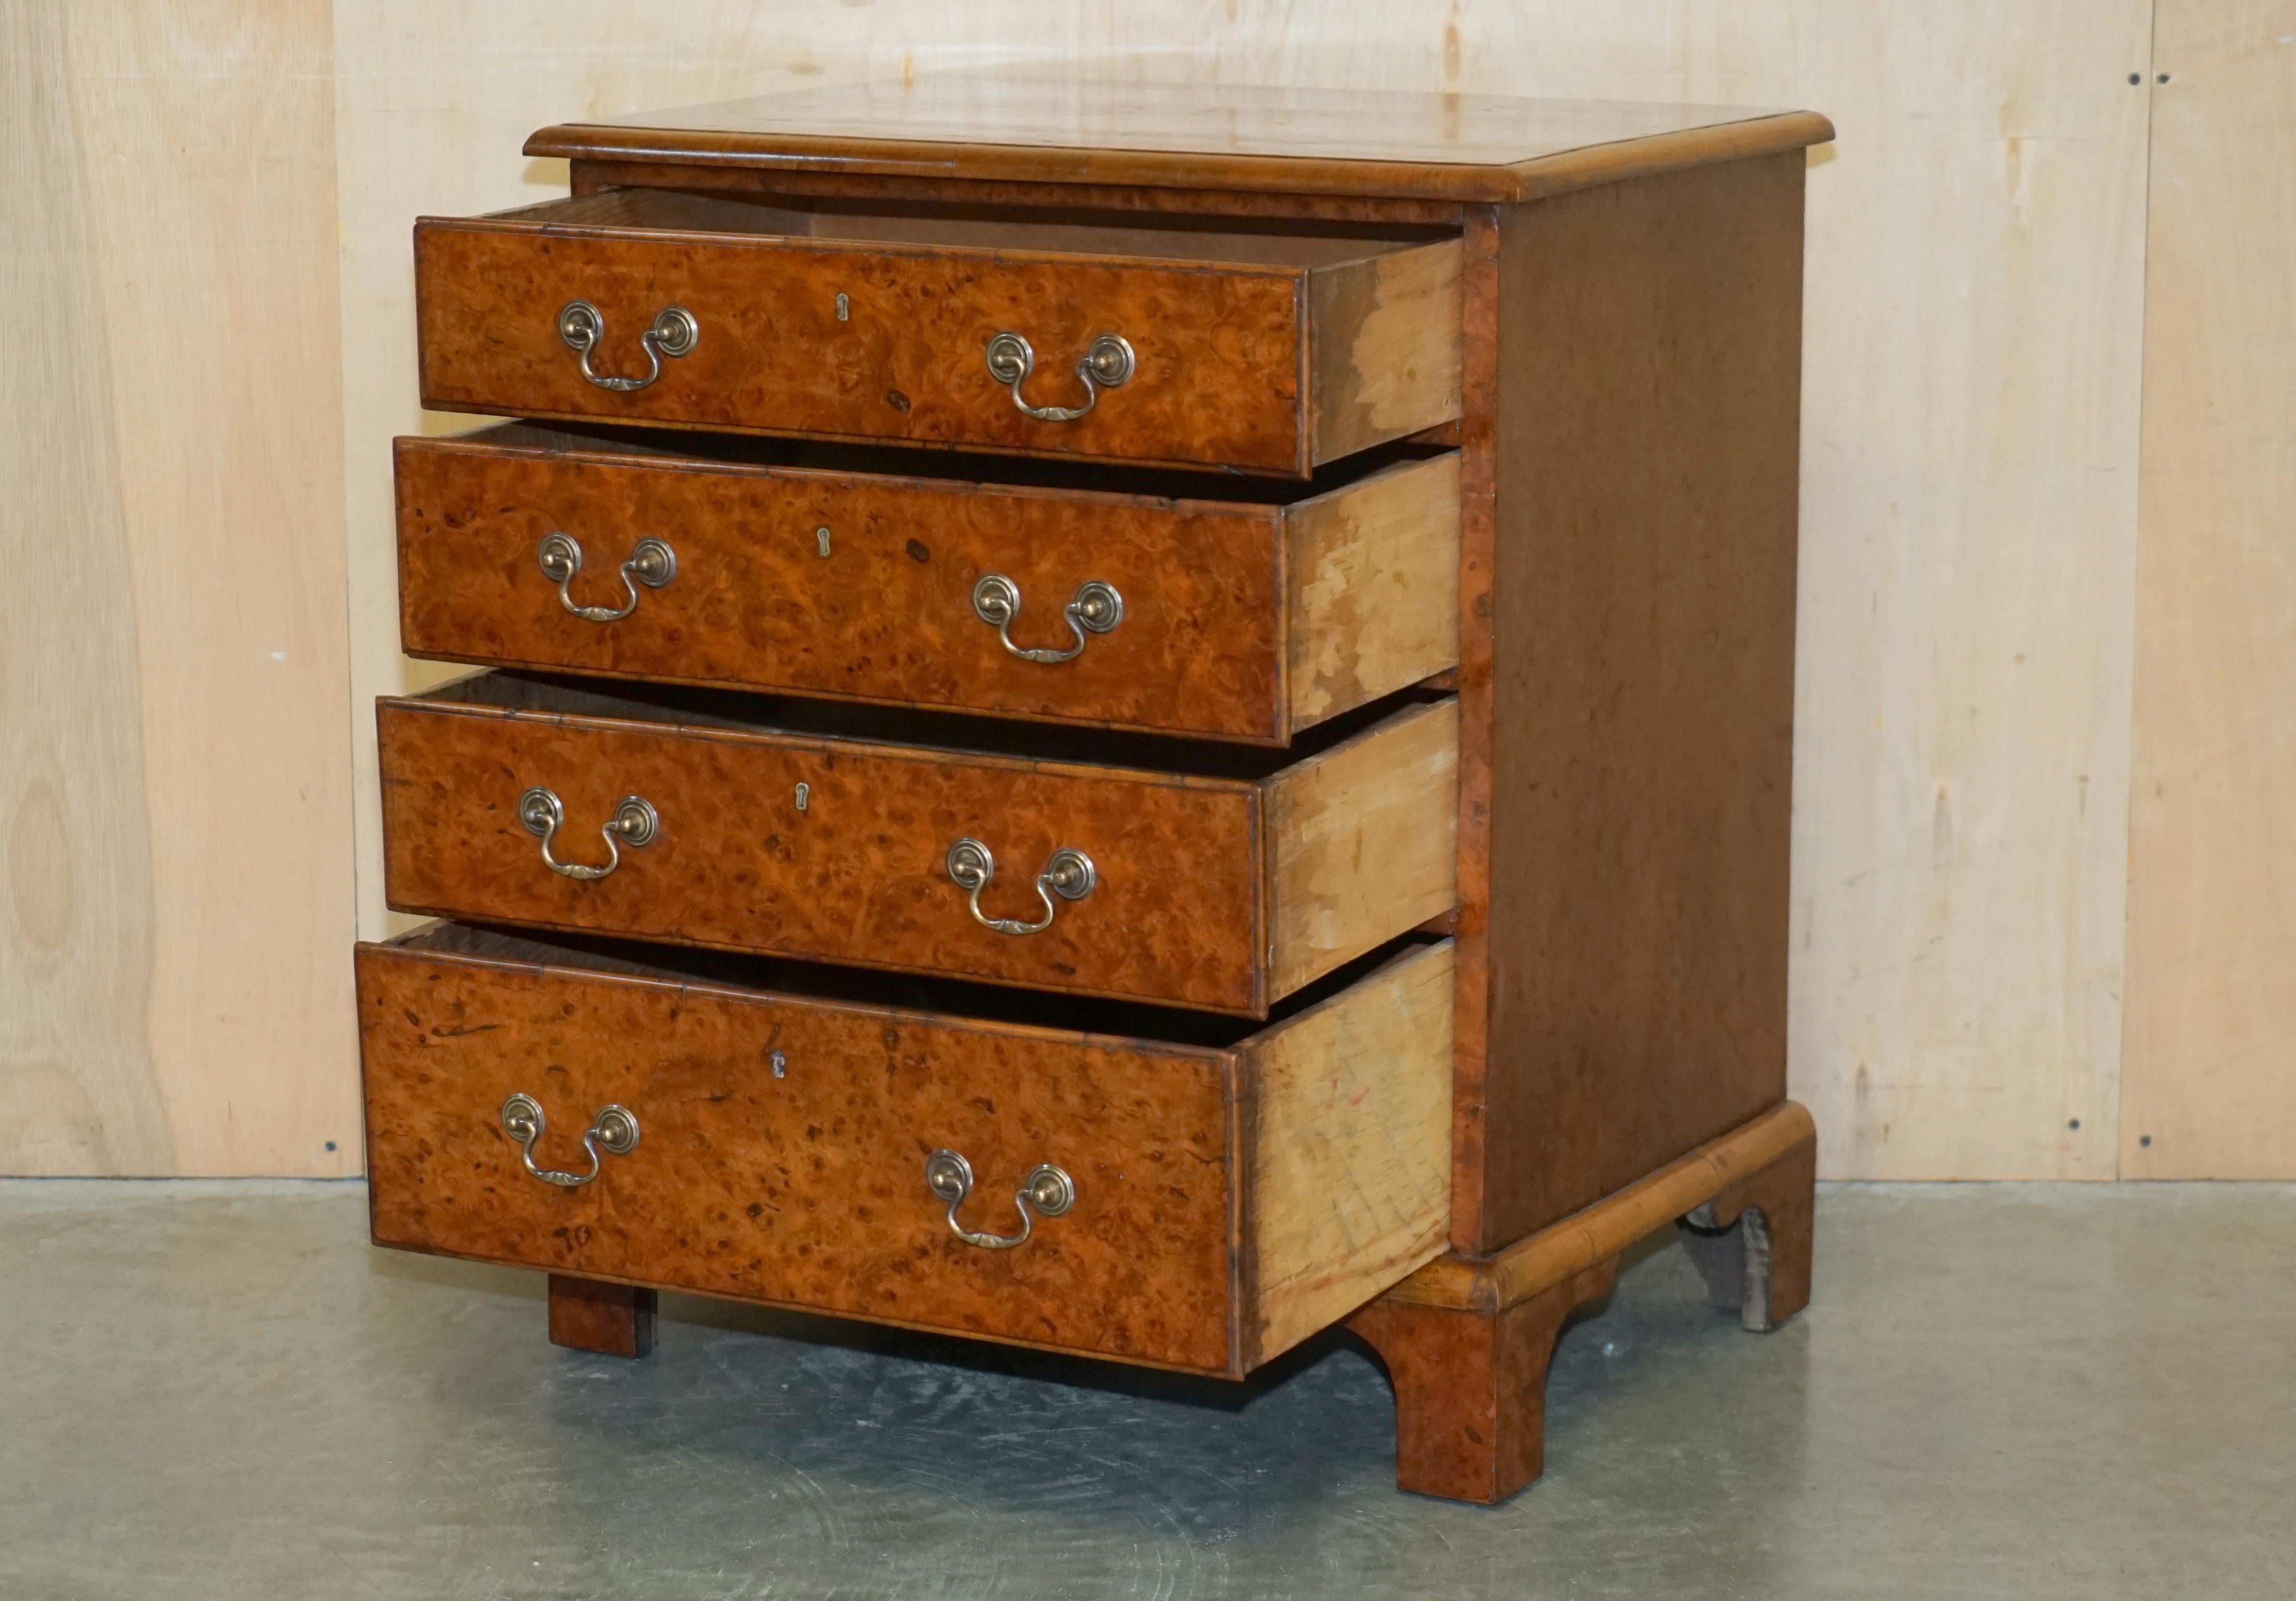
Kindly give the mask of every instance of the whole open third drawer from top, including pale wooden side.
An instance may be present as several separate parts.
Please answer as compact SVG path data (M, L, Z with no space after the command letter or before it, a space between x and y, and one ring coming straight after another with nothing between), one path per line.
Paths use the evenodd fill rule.
M1304 756L1031 724L969 728L1001 749L817 733L946 724L863 712L512 673L383 701L386 894L1238 1015L1456 898L1449 698L1336 719ZM1212 772L1058 758L1109 742Z

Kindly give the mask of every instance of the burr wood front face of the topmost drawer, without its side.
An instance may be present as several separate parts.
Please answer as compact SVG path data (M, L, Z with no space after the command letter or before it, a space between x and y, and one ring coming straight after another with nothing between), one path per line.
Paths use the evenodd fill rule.
M416 289L425 407L1306 471L1300 273L425 223ZM599 310L608 377L645 372L668 305L700 338L615 393L558 333L572 301ZM1084 418L1029 418L987 368L1006 331L1035 351L1031 404L1079 407L1102 333L1134 370Z

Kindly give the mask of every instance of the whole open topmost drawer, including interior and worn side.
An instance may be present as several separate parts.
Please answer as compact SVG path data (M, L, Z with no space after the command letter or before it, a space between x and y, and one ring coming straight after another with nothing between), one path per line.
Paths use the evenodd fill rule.
M1270 227L1270 225L1261 225ZM604 191L416 225L422 404L1306 475L1449 423L1460 241Z

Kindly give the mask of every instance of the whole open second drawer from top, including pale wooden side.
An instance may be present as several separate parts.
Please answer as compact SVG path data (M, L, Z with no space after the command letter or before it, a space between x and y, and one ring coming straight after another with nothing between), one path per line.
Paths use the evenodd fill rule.
M1274 744L1458 662L1453 455L1208 501L751 443L397 441L404 648Z

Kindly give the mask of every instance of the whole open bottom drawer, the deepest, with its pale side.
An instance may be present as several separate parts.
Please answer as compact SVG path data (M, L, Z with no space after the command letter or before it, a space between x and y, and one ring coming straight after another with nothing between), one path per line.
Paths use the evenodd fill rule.
M379 1245L1242 1374L1449 1229L1449 942L1226 1045L452 923L358 1001Z

